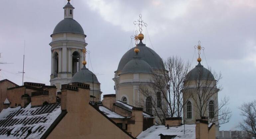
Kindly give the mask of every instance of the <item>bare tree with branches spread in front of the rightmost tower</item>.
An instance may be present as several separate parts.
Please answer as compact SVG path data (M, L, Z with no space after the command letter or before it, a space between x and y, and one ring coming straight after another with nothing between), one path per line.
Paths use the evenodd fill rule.
M187 93L185 98L191 98L195 103L194 107L197 113L197 119L203 116L208 116L210 122L215 122L216 125L229 122L231 118L231 111L227 107L229 98L224 97L218 102L218 92L222 89L219 85L219 80L222 78L221 73L216 73L203 68L200 63L196 66L194 71L187 75L185 86L183 90ZM191 78L192 77L192 78ZM189 85L188 85L189 84ZM186 103L186 101L184 101Z

